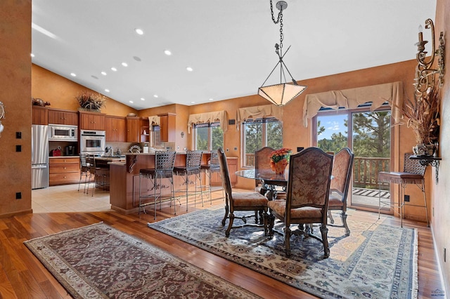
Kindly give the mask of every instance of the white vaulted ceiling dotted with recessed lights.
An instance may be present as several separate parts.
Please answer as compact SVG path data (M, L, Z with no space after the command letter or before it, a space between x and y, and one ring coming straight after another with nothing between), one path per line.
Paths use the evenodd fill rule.
M300 83L414 59L418 27L436 8L435 0L286 1L284 62ZM256 94L278 62L269 0L33 0L32 27L34 64L135 109Z

